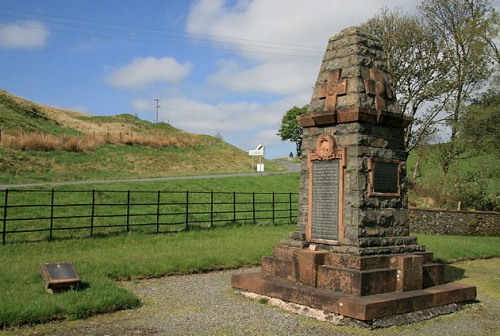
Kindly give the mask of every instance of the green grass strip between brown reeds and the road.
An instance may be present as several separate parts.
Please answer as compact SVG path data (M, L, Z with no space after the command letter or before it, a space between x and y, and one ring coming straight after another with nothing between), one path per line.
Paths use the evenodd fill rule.
M283 168L265 161L266 171ZM105 145L88 153L19 151L0 147L0 183L250 173L248 155L227 143L191 148Z

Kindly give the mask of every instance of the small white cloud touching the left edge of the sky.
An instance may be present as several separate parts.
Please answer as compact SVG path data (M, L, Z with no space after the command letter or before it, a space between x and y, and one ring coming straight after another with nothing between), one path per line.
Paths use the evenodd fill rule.
M45 46L49 31L39 21L20 21L0 25L0 47L5 49L31 49Z

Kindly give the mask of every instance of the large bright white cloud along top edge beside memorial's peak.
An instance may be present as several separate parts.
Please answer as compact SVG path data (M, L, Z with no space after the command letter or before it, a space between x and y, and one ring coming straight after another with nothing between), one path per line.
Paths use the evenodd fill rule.
M229 37L238 39L232 41L239 41L243 52L249 52L252 48L255 51L255 46L262 46L263 41L269 42L268 52L281 50L286 53L305 46L323 49L328 37L348 26L367 20L384 6L401 7L410 12L415 11L420 2L200 0L191 7L187 29L190 33L208 34L218 42L228 41ZM322 54L321 50L320 53Z

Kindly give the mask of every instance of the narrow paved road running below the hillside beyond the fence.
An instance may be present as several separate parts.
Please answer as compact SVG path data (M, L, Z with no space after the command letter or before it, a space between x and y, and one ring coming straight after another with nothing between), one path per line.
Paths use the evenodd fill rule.
M194 176L174 176L174 177L151 177L151 178L130 178L116 180L85 180L85 181L67 181L67 182L45 182L45 183L23 183L23 184L0 184L0 190L13 188L32 188L40 186L63 186L76 184L96 184L96 183L115 183L115 182L150 182L150 181L168 181L168 180L183 180L183 179L200 179L200 178L223 178L232 176L261 176L261 175L276 175L289 174L300 171L300 163L289 162L285 160L276 161L286 171L281 172L260 172L260 173L239 173L239 174L220 174L220 175L194 175Z

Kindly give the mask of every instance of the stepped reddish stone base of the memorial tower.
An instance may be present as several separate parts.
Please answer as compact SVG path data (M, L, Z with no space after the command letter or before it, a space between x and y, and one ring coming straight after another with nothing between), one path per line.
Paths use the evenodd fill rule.
M276 247L260 273L237 274L233 288L362 321L476 298L476 287L444 283L432 253L353 256Z

